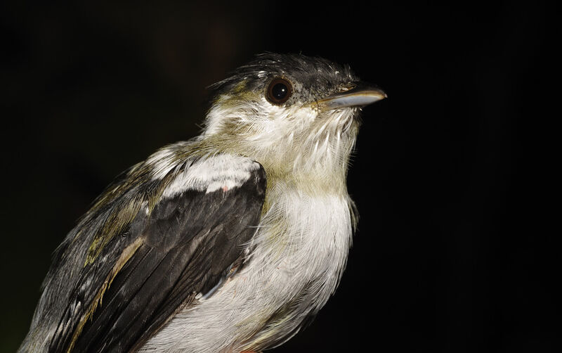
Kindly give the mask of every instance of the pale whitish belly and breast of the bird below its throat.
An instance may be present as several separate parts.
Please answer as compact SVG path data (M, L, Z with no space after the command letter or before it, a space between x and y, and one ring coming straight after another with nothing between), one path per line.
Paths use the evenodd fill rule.
M251 257L235 276L174 316L141 351L261 350L296 333L339 282L351 245L351 214L347 195L300 205L292 200L282 211L263 216Z

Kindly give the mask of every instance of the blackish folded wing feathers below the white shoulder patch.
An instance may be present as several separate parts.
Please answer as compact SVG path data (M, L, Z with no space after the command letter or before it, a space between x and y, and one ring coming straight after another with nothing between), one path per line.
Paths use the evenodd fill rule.
M207 293L243 257L259 224L266 191L263 167L252 172L242 186L211 193L188 190L155 205L150 216L143 211L124 237L110 241L100 256L115 256L143 237L142 245L113 278L103 300L81 329L73 352L129 352L141 347L178 310ZM96 264L92 264L95 266ZM81 276L81 281L86 280ZM94 289L103 278L98 275ZM93 302L96 290L80 293ZM72 310L67 311L72 316ZM64 318L63 318L64 321ZM51 342L51 351L66 351L74 329Z

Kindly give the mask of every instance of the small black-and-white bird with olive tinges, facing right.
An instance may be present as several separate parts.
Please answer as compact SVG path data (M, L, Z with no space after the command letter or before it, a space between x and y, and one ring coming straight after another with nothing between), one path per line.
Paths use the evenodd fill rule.
M120 174L65 236L18 352L261 352L332 296L360 111L386 94L270 52L211 89L201 134Z

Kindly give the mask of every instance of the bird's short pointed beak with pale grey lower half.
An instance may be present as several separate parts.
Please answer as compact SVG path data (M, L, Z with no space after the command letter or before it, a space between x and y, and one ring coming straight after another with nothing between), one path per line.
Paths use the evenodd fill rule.
M355 83L341 92L320 99L318 106L324 109L364 107L384 98L386 98L386 93L377 86Z

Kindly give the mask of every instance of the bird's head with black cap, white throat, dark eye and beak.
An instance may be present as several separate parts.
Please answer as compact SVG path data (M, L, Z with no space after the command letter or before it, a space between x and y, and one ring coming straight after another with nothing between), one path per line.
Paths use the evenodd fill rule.
M273 53L214 88L202 139L282 173L346 169L358 111L386 97L348 66Z

